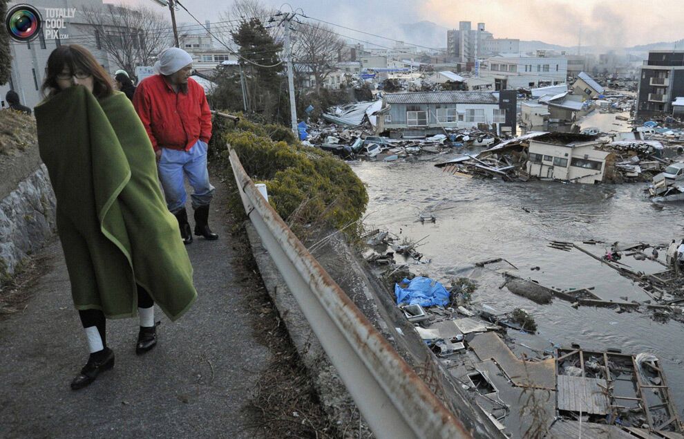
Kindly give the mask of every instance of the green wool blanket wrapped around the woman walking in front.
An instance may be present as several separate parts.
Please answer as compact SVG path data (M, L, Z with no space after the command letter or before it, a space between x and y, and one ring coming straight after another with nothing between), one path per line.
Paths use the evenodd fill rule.
M178 319L197 298L192 265L131 101L120 92L98 101L72 86L35 115L76 309L134 317L137 283Z

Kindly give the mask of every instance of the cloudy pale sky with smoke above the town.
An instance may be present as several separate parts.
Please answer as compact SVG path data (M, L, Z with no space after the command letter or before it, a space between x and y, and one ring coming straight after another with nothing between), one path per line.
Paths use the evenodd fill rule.
M163 10L151 0L124 1ZM182 3L202 21L219 21L220 12L232 5L231 0ZM289 10L283 1L263 3ZM310 17L431 47L446 46L446 32L430 37L415 34L410 28L404 32L398 25L432 21L444 28L455 28L459 21L471 21L473 26L484 22L494 37L538 39L563 46L576 46L580 29L582 46L634 46L684 38L683 0L292 0L289 4L302 8ZM178 20L192 21L182 10ZM350 30L336 31L371 39ZM385 44L392 45L389 41Z

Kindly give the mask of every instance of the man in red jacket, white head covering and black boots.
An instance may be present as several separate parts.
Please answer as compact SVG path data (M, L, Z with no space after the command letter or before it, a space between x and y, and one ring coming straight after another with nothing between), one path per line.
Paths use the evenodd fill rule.
M190 78L192 58L180 48L167 48L155 64L158 75L138 84L133 106L152 141L167 207L178 219L183 242L192 242L185 210L184 177L193 187L195 234L213 241L209 229L209 203L213 186L207 171L207 145L211 138L211 113L205 91Z

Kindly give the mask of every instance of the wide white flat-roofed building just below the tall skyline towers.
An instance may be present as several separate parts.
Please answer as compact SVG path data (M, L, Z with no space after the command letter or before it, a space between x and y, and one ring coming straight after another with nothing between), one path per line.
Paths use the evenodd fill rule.
M486 59L479 67L479 76L493 77L497 90L564 84L567 59L503 53Z

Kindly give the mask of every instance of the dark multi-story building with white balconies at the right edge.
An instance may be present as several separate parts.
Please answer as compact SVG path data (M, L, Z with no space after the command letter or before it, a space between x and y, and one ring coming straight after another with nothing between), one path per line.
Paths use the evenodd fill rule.
M651 50L640 70L636 114L672 113L672 102L684 97L684 50Z

